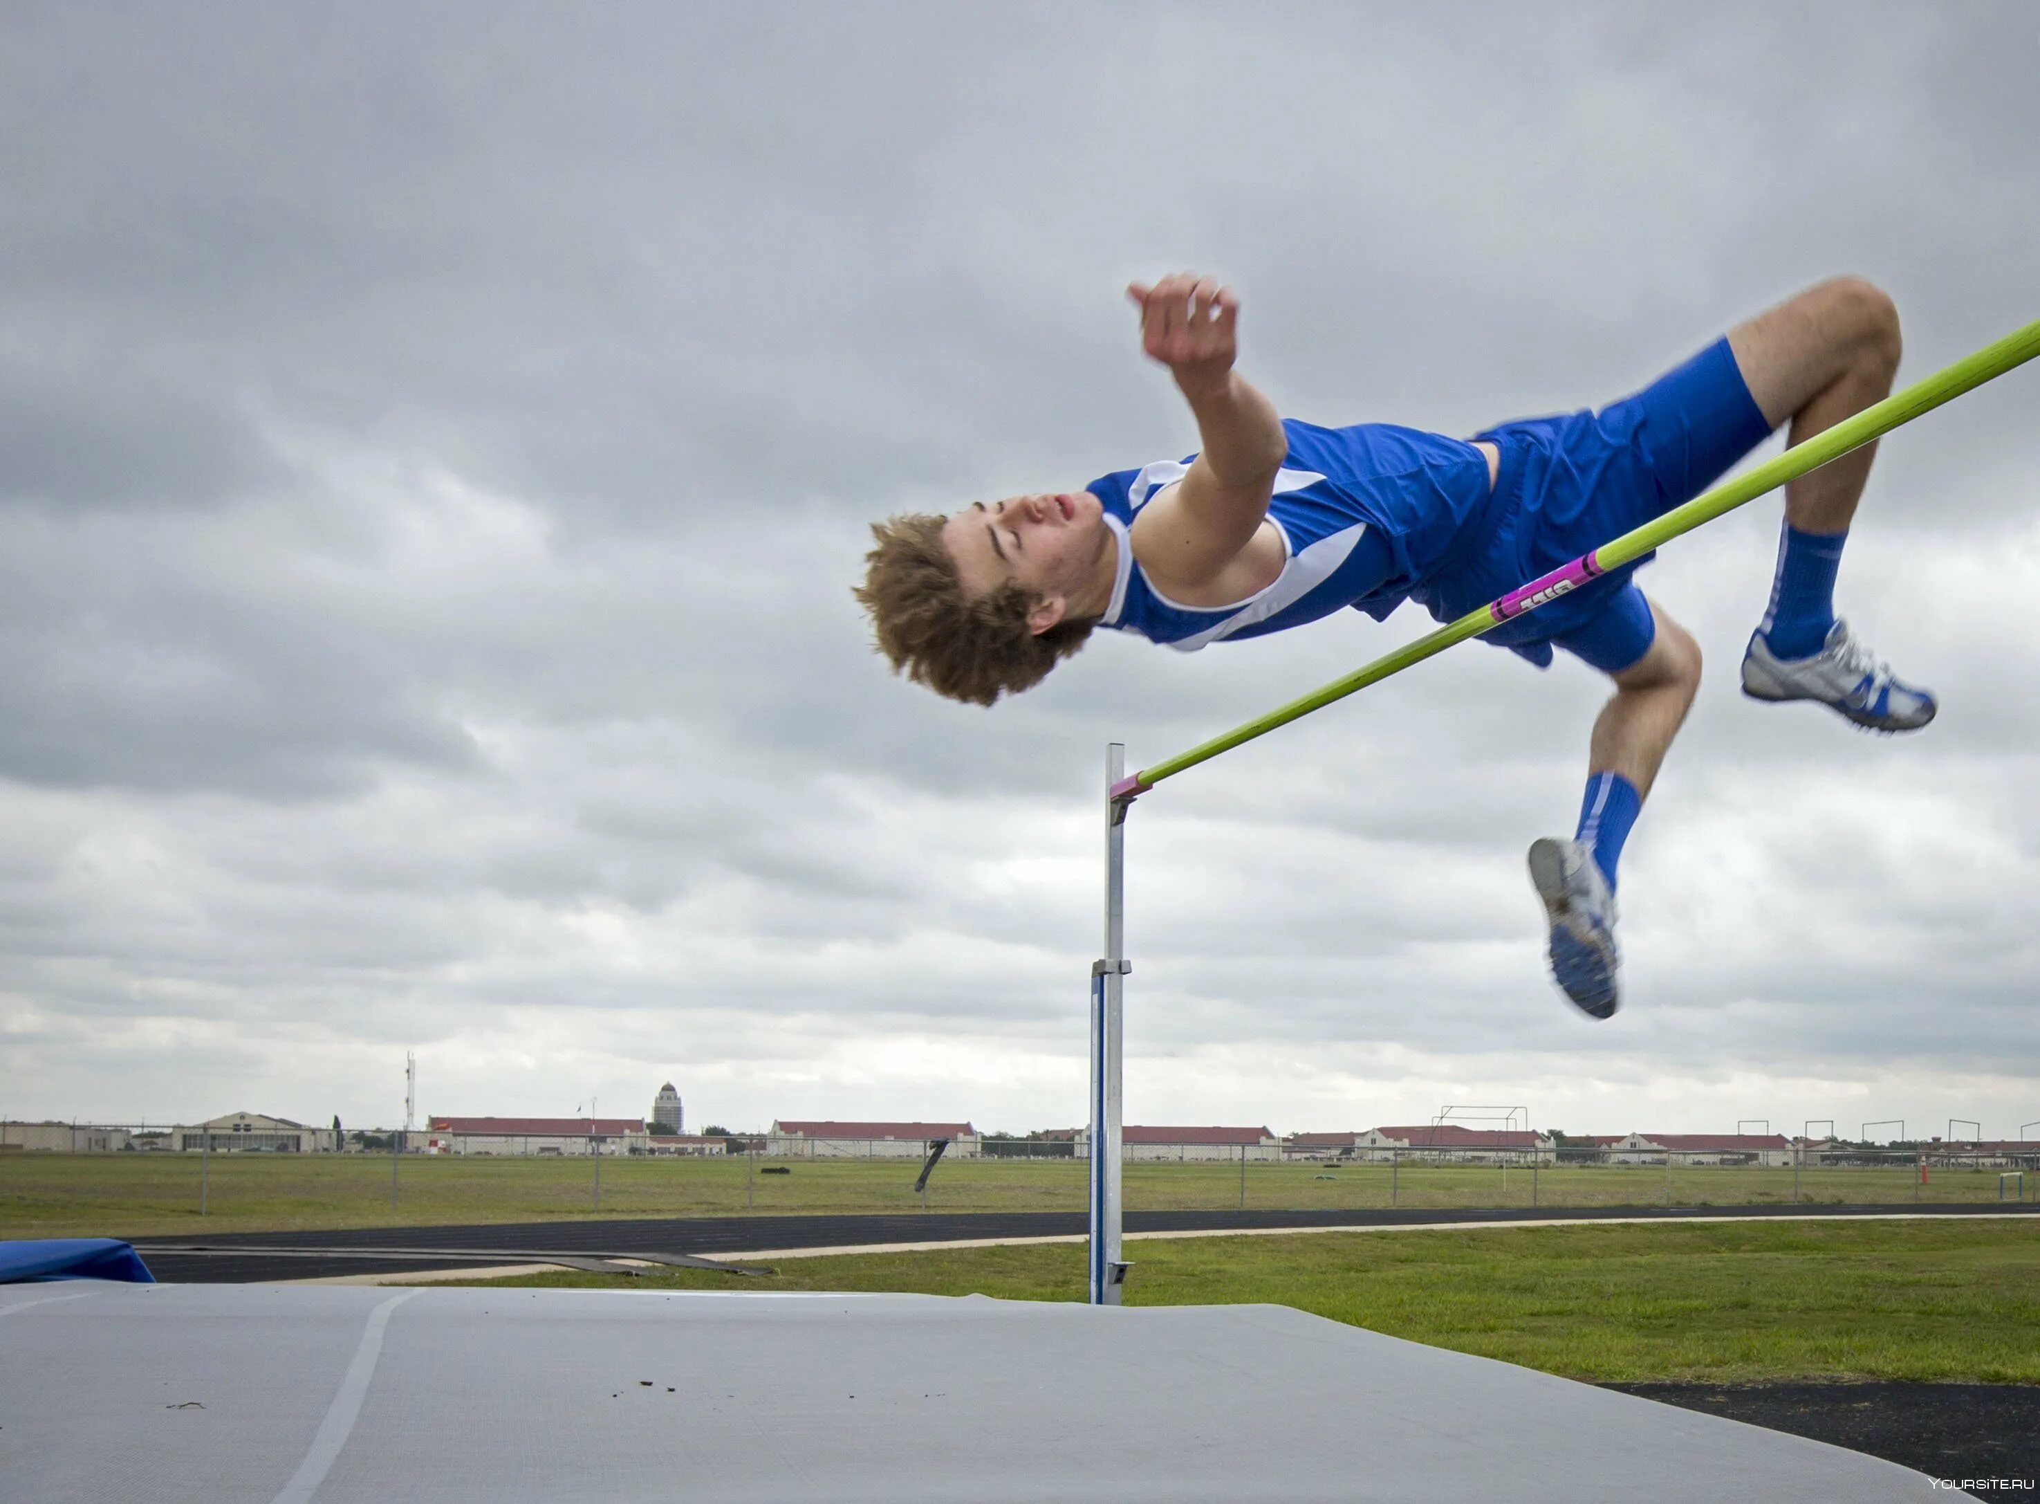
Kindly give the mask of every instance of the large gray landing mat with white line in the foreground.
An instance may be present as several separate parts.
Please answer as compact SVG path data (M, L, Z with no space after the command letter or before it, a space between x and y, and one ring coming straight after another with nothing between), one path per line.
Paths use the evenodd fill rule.
M1962 1498L1283 1306L104 1284L0 1288L0 1496Z

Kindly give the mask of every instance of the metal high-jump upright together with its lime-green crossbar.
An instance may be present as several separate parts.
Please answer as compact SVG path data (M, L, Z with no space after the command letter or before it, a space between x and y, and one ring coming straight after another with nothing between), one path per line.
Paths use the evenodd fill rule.
M1436 657L1444 649L1465 643L1469 637L1499 626L1501 622L1536 610L1559 596L1577 590L1595 575L1634 563L1642 555L1691 533L1705 522L1714 522L1734 512L1744 502L1752 502L1779 486L1820 469L1830 459L1840 459L1850 449L1891 433L1899 424L1911 422L1924 412L1932 412L1944 402L1971 392L1985 382L2003 375L2016 365L2040 355L2040 322L2005 335L1993 345L1985 345L1954 365L1914 382L1903 392L1893 392L1883 402L1865 408L1852 418L1844 418L1832 429L1824 429L1805 443L1793 445L1783 455L1752 465L1740 475L1732 475L1710 492L1695 496L1683 506L1675 506L1640 529L1624 533L1620 539L1603 543L1591 553L1583 553L1571 563L1552 569L1548 575L1532 580L1506 596L1491 600L1479 610L1471 610L1459 620L1446 622L1434 633L1377 657L1373 663L1332 680L1289 704L1255 716L1232 731L1210 741L1202 741L1189 751L1165 757L1138 773L1126 773L1126 749L1112 743L1106 753L1106 953L1091 965L1091 1257L1089 1257L1089 1298L1093 1306L1116 1306L1120 1286L1126 1277L1126 1263L1120 1259L1120 1002L1124 977L1130 971L1124 955L1126 918L1126 812L1136 798L1153 790L1165 778L1189 771L1197 763L1208 763L1220 753L1265 737L1277 726L1302 720L1312 710L1322 710L1334 700L1365 690L1371 684L1401 673L1404 669ZM2034 1124L2028 1124L2034 1126ZM2024 1133L2024 1129L2022 1129ZM1393 1163L1393 1161L1391 1161ZM1671 1194L1671 1155L1667 1155L1667 1198ZM1391 1171L1393 1175L1393 1171Z

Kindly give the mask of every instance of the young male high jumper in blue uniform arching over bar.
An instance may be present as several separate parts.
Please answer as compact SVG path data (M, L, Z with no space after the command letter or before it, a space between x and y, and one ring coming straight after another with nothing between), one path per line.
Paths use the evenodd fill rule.
M1891 392L1899 363L1891 300L1840 278L1736 324L1599 412L1522 418L1473 439L1320 429L1277 416L1234 369L1230 288L1185 271L1128 296L1146 353L1197 420L1200 451L1081 492L873 527L857 598L896 671L991 704L1038 684L1093 626L1195 651L1342 606L1379 620L1416 600L1452 620L1691 500L1781 422L1801 443L1860 412ZM1934 718L1934 696L1897 680L1834 616L1873 449L1785 488L1771 608L1742 655L1742 692L1918 731ZM1485 635L1538 667L1563 647L1616 686L1593 722L1575 839L1530 847L1552 975L1593 1018L1620 1004L1616 861L1699 688L1699 647L1630 580L1648 557Z

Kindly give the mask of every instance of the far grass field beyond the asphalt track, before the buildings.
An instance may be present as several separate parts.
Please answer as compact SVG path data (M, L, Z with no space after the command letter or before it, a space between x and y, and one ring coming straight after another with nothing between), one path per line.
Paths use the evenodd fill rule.
M757 1169L783 1165L792 1173ZM532 1222L585 1216L741 1212L1077 1212L1079 1159L961 1159L936 1167L926 1200L908 1159L606 1159L602 1204L592 1159L406 1155L212 1155L206 1216L200 1157L167 1153L0 1155L0 1237L143 1237L286 1229ZM1130 1163L1128 1210L1383 1206L1765 1206L1793 1200L1791 1169ZM1995 1171L1807 1169L1809 1204L1991 1202Z

